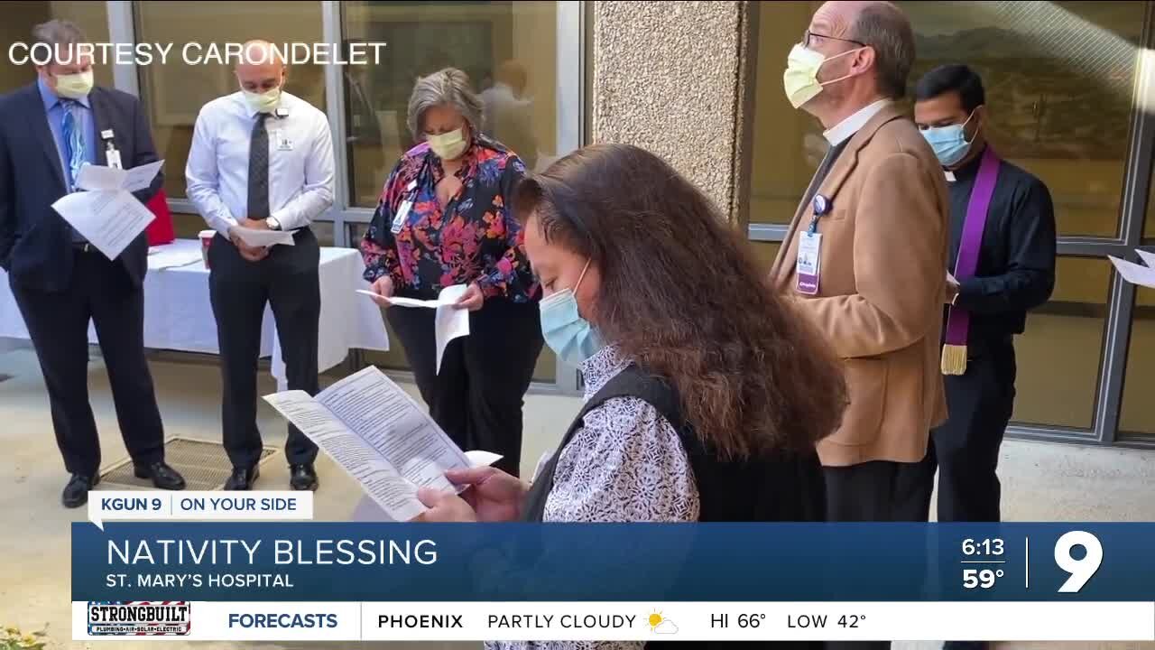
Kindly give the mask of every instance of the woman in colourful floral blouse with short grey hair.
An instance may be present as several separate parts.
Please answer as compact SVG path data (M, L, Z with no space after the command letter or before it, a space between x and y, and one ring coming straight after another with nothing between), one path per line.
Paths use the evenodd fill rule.
M383 306L468 287L456 306L470 310L470 334L448 345L440 369L434 310L393 308L387 317L433 419L460 446L499 453L497 466L516 474L522 398L543 345L538 287L507 200L526 168L479 132L482 102L459 69L417 81L408 124L419 143L385 183L360 245L365 279Z

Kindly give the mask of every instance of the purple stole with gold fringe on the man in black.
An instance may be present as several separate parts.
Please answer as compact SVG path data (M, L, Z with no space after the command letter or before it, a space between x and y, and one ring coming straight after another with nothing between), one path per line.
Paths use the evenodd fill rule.
M983 244L986 213L994 194L994 182L999 175L999 157L986 145L983 161L978 165L975 187L967 202L967 220L962 222L962 239L954 265L954 279L962 283L973 278L978 268L978 249ZM946 344L942 346L942 374L962 375L967 371L967 333L970 328L970 312L951 305L946 319Z

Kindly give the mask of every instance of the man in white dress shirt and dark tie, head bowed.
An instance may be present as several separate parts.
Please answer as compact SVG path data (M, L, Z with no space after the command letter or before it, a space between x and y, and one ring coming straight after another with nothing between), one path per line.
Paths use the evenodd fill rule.
M284 61L264 40L245 44L240 90L196 118L185 175L188 198L217 231L209 294L224 379L225 489L258 478L256 361L266 304L273 309L290 390L319 392L320 246L310 223L333 205L333 135L325 113L284 91ZM293 232L295 245L251 246L241 229ZM296 427L285 442L290 486L316 489L316 445Z

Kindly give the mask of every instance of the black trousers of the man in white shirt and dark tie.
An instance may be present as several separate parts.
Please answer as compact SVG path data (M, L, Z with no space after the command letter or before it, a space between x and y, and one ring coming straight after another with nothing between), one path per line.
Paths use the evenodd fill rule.
M296 245L273 246L268 257L256 263L240 257L237 246L221 235L209 246L209 297L224 379L221 416L233 467L256 465L263 450L256 428L256 362L266 304L276 319L289 390L311 396L320 392L321 249L308 228L293 239ZM311 464L316 459L316 444L289 424L285 457L291 465Z

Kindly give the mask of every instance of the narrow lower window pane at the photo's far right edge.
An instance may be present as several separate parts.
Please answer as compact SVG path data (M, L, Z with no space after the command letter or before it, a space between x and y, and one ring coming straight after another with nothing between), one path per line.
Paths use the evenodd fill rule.
M1119 430L1155 435L1155 289L1137 288L1133 318Z

